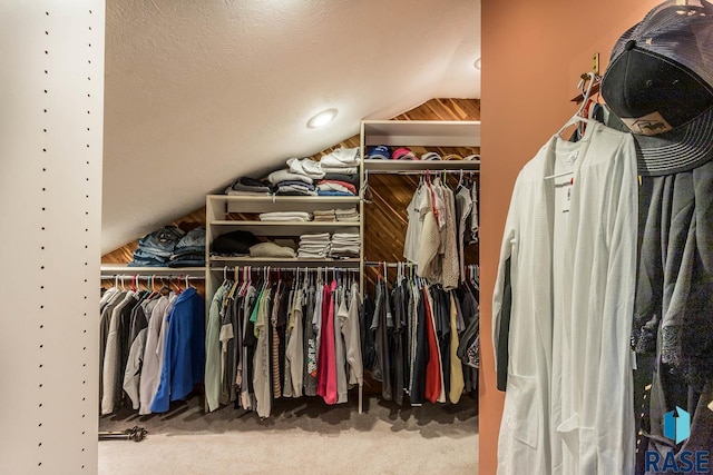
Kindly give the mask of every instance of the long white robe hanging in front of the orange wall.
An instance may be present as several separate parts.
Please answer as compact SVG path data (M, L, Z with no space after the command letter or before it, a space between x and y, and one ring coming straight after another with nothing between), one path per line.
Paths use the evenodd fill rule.
M492 301L496 358L510 311L499 474L634 472L635 154L629 135L592 123L517 178Z

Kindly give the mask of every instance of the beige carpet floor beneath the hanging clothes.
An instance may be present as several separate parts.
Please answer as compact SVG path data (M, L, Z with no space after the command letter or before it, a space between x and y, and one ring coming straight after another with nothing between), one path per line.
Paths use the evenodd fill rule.
M350 395L351 399L352 398ZM100 431L146 428L139 443L99 443L99 474L477 474L476 402L399 408L377 397L326 406L320 398L279 399L270 418L201 397L169 413L126 410L101 417Z

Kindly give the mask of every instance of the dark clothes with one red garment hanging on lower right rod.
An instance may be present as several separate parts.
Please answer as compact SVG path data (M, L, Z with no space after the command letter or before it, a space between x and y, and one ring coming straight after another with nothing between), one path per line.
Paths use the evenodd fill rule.
M382 397L399 405L406 404L406 396L412 406L427 400L456 404L468 387L466 374L469 380L477 379L463 369L463 360L456 354L458 343L451 344L459 342L466 330L457 294L421 278L407 278L401 269L390 294L383 290L384 283L379 275L375 303L365 296L362 305L368 321L373 324L367 331L373 343L363 350L375 355L369 369L382 382ZM472 297L469 289L459 290L462 298ZM384 331L380 326L385 329L385 343L381 344ZM391 399L383 395L384 379L390 385L387 396Z

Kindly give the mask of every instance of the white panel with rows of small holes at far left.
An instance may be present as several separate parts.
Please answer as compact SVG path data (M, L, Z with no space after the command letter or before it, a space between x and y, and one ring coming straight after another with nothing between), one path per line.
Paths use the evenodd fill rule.
M97 473L105 4L0 1L0 473Z

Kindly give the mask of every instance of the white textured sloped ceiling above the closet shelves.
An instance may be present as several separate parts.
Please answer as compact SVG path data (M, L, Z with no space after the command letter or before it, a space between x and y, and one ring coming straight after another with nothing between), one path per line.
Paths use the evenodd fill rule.
M479 98L479 56L480 0L107 0L102 254L362 118Z

